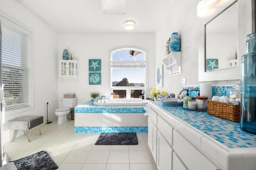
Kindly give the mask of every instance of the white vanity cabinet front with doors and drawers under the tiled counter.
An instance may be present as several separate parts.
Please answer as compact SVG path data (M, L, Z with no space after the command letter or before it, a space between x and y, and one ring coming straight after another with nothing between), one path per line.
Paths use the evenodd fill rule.
M196 133L191 137L186 133L186 125L176 117L153 104L148 106L148 145L158 170L220 170L192 144Z

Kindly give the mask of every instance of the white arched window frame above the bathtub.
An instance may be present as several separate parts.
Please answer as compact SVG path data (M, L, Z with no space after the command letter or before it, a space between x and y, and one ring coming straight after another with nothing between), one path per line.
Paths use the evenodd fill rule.
M134 51L140 51L144 53L145 55L145 61L112 61L112 54L116 53L117 51L123 51L123 50L134 50ZM136 48L136 47L123 47L123 48L117 48L115 50L110 51L110 91L113 92L113 90L126 90L126 99L131 99L131 90L144 90L145 91L145 98L146 98L146 85L148 84L148 77L147 77L147 66L148 66L148 61L147 61L147 55L146 51ZM121 66L123 64L127 64L127 66ZM116 64L116 66L112 66L112 64ZM120 66L118 66L120 64ZM133 68L132 65L138 66L134 68L144 68L144 86L112 86L112 68ZM140 66L140 64L143 64L144 66ZM140 98L132 98L132 99L140 99Z

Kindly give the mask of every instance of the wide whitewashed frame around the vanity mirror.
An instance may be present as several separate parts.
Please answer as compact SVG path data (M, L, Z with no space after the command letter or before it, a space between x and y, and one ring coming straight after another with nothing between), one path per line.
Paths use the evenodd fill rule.
M255 0L222 0L199 20L198 81L239 80L241 78L241 57L245 55L245 36L254 30ZM238 6L238 67L206 72L205 25L237 2Z

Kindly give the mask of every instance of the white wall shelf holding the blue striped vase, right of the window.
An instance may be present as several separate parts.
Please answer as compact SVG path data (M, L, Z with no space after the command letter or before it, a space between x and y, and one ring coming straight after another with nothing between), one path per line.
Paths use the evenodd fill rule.
M181 74L181 65L182 65L181 57L182 57L182 52L173 51L162 59L162 61L166 66L166 69L169 70L170 76Z

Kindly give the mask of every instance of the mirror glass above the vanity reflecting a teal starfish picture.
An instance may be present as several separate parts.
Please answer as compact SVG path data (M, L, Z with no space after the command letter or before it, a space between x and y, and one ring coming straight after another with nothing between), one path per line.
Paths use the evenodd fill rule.
M237 2L205 25L206 71L238 66Z

